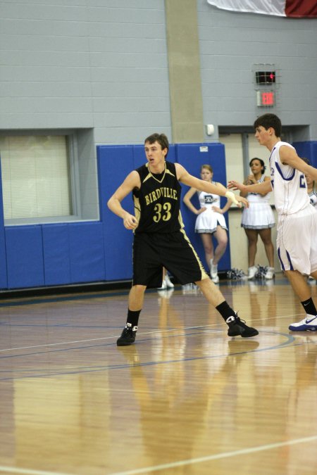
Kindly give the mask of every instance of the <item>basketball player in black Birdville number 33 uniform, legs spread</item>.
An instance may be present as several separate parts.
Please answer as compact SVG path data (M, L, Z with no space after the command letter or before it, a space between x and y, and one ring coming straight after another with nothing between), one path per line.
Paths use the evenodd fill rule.
M117 340L118 346L134 343L144 291L161 286L163 267L185 285L195 282L206 299L220 312L228 324L228 336L249 337L259 332L240 320L213 284L183 229L180 215L180 182L202 191L226 196L234 203L247 205L221 184L211 184L189 175L179 163L166 161L168 139L164 134L152 134L144 141L147 163L133 170L108 201L108 208L123 219L127 229L133 229L133 280L129 293L128 318ZM121 206L132 191L135 215Z

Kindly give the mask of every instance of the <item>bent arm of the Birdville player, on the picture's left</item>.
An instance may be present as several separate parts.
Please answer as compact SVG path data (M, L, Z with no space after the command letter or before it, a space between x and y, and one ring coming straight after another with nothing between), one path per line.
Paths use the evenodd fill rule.
M123 225L127 229L135 229L138 222L135 216L123 209L121 201L123 201L123 198L125 198L132 189L139 188L139 186L139 174L134 170L125 178L125 181L120 184L107 203L109 210L111 210L115 215L122 217Z

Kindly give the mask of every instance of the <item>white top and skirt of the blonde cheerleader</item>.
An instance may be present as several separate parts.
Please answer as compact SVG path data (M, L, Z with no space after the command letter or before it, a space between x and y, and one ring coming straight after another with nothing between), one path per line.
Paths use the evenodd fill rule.
M212 182L216 184L216 182ZM217 226L221 226L228 231L227 224L225 224L225 217L221 213L213 211L213 206L220 208L220 196L206 191L197 191L199 204L201 208L206 208L205 211L197 216L195 224L195 232L213 234L217 231Z

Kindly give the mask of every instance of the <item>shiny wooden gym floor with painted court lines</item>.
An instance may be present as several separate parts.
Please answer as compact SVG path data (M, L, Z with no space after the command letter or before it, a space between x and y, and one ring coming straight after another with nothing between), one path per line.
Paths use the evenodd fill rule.
M0 473L316 474L317 332L282 276L220 289L259 336L180 286L125 348L128 291L2 299Z

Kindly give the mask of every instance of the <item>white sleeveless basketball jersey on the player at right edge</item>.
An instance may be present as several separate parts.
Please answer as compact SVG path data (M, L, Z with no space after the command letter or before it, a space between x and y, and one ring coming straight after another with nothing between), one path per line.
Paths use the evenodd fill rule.
M304 173L280 161L280 147L292 145L279 141L270 157L271 184L274 192L275 208L280 215L292 215L306 208L309 203Z

